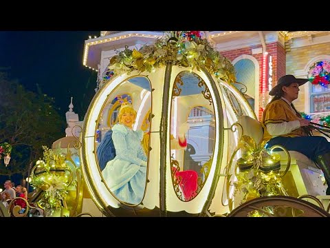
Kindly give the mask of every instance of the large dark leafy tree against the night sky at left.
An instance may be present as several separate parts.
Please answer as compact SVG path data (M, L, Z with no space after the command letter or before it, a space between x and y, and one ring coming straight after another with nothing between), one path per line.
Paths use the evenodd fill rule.
M11 160L5 167L0 161L0 175L25 178L30 165L43 158L42 145L64 136L65 119L54 109L54 99L46 94L25 90L18 81L0 72L0 143L12 145Z

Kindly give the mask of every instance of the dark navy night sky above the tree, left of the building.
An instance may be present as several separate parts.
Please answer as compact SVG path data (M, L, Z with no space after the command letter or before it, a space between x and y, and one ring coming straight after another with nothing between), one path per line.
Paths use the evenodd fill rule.
M80 121L94 96L96 71L83 65L85 40L100 31L0 31L0 68L10 72L27 90L55 98L61 116L74 97L74 112ZM64 130L63 130L64 132Z

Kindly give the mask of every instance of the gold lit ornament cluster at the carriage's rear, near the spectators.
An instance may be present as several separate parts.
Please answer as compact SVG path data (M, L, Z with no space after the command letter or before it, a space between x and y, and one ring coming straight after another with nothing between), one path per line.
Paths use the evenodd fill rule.
M43 160L36 162L31 179L34 189L43 192L38 203L45 209L45 216L51 216L61 207L67 207L65 198L73 176L61 149L52 150L43 146Z

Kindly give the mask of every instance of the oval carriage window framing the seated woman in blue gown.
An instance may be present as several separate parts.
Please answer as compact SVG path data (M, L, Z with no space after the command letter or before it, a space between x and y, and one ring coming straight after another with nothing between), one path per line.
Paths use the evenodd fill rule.
M102 181L127 205L138 205L144 197L150 112L150 82L136 76L109 94L97 120L95 151Z

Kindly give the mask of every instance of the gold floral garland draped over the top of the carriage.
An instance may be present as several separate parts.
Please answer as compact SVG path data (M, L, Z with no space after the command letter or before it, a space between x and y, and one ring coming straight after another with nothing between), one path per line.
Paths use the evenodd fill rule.
M167 63L182 67L205 68L219 79L235 81L234 66L219 54L207 39L201 38L199 31L168 31L153 45L142 45L139 50L116 51L109 63L109 71L122 74L137 70L152 72ZM113 74L107 74L109 79Z

